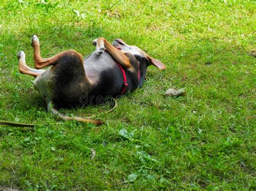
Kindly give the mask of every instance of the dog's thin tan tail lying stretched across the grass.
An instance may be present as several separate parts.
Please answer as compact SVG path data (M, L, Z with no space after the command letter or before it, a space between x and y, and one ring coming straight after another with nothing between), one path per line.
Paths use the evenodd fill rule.
M85 118L83 118L83 117L76 117L76 116L75 116L75 117L69 117L69 116L60 114L60 112L58 112L58 110L53 107L52 102L49 102L49 103L47 104L47 109L48 109L48 111L51 111L51 113L52 113L53 115L58 116L58 117L61 118L63 121L75 120L75 121L84 122L84 123L92 123L92 124L95 124L95 125L100 125L100 124L103 124L103 123L104 123L103 121L100 121L100 120L85 119Z

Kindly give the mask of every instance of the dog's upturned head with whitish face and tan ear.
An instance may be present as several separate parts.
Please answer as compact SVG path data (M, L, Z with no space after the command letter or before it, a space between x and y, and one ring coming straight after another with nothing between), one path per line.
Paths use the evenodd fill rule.
M166 68L166 66L159 60L152 58L137 46L125 44L122 39L115 39L112 44L114 47L120 49L120 51L131 53L137 60L145 60L147 66L153 65L159 69Z

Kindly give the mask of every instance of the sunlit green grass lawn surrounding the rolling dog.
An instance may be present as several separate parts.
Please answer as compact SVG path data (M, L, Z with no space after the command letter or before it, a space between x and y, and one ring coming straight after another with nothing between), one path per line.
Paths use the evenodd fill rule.
M0 127L0 188L256 189L255 1L45 2L0 4L0 119L38 124ZM109 104L62 110L104 125L61 122L18 72L21 49L33 66L32 34L44 57L88 55L103 36L167 69L150 67L109 114ZM184 87L184 97L163 96Z

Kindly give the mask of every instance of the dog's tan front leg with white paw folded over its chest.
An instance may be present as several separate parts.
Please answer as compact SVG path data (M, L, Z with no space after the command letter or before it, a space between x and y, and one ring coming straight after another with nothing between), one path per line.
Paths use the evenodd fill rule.
M130 59L122 51L114 47L104 37L100 37L97 40L93 40L93 45L96 45L96 52L98 55L102 54L104 49L109 52L113 58L120 63L123 67L132 70L133 66L130 63Z

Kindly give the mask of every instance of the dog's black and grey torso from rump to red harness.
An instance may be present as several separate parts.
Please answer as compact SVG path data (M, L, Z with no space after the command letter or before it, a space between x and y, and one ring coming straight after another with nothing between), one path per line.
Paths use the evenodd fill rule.
M90 83L84 80L83 69ZM84 67L75 63L51 66L33 84L46 103L51 101L59 108L95 103L99 96L115 97L120 94L123 74L117 72L119 70L109 53L100 56L92 53L84 61Z

